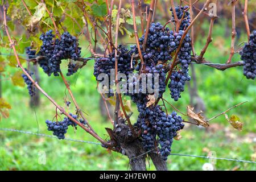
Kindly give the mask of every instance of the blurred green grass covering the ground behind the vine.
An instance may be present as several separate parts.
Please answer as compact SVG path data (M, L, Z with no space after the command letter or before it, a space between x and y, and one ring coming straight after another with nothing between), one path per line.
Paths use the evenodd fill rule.
M213 39L217 43L210 44L205 57L214 63L224 63L228 59L229 38L224 37L222 25L216 25L218 31L213 32ZM203 27L207 30L207 27ZM222 36L222 38L221 38ZM202 38L203 39L203 38ZM205 39L203 39L205 40ZM245 40L245 36L241 37ZM196 51L199 52L204 42L196 44ZM83 43L86 47L86 43ZM223 47L220 47L223 46ZM86 52L84 52L84 56ZM235 55L233 60L239 60L239 55ZM65 69L67 65L63 65ZM229 107L243 101L249 101L231 111L228 115L236 114L243 122L243 131L234 130L224 116L218 117L210 123L218 123L217 131L201 129L197 126L186 125L181 132L183 138L174 142L172 153L191 154L207 156L208 151L216 152L217 157L232 158L240 160L253 160L255 154L255 111L256 98L255 81L247 80L242 75L242 67L231 68L224 72L207 67L206 65L195 65L199 94L207 106L206 115L208 118L221 113ZM9 68L10 73L16 69ZM68 93L61 78L48 77L40 69L40 85L46 92L54 98L57 103L64 106L64 98ZM7 76L8 77L8 76ZM81 72L76 73L72 78L71 89L79 102L82 110L88 115L86 118L98 134L107 139L105 127L111 127L110 122L104 121L101 117L98 103L100 94L96 90L96 81L93 76L93 61ZM3 98L11 105L10 118L2 119L0 128L11 128L26 130L51 135L47 131L44 121L52 119L55 115L55 107L45 98L41 97L41 105L38 108L28 106L29 96L26 88L15 87L11 80L2 81ZM69 98L69 97L68 97ZM189 104L188 88L182 93L179 102L172 102L170 94L165 93L164 98L174 104L181 111L185 112ZM69 99L70 100L70 99ZM75 107L71 105L66 108L73 112ZM167 106L172 111L170 106ZM135 122L137 117L136 107L133 105L134 114L131 121ZM253 141L253 136L254 141ZM69 129L67 138L81 139L97 142L96 139L82 131L80 128L76 133ZM46 152L46 164L39 164L40 154ZM255 160L255 159L254 159ZM171 170L201 170L208 159L191 158L186 156L171 155L168 159L168 167ZM215 165L217 170L231 170L238 168L241 170L255 170L255 164L230 162L217 160ZM154 170L150 162L147 168ZM10 131L0 131L0 170L126 170L129 169L126 156L108 152L104 148L79 142L57 140L52 138L36 137L13 133Z

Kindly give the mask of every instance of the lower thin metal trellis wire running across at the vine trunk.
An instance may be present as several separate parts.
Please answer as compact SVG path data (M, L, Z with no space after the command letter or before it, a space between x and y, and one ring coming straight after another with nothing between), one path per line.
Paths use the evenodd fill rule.
M57 139L57 137L52 136L52 135L46 135L46 134L40 134L40 133L33 133L31 131L23 131L23 130L15 130L15 129L6 129L6 128L0 128L0 130L2 131L13 131L13 132L18 132L18 133L23 133L23 134L29 134L29 135L37 135L40 137L49 137L49 138L55 138ZM90 142L90 141L85 141L85 140L77 140L77 139L70 139L70 138L65 138L64 140L68 140L68 141L72 141L72 142L82 142L82 143L89 143L89 144L97 144L97 145L101 145L101 143L97 143L97 142ZM135 159L135 158L139 158L149 152L152 152L153 150L144 152L143 154L136 156L134 158L131 159ZM216 159L216 160L229 160L229 161L233 161L233 162L243 162L243 163L256 163L254 161L250 161L250 160L239 160L239 159L228 159L228 158L214 158L214 157L210 157L210 156L200 156L200 155L189 155L189 154L170 154L170 155L176 155L176 156L188 156L188 157L193 157L193 158L205 158L205 159Z

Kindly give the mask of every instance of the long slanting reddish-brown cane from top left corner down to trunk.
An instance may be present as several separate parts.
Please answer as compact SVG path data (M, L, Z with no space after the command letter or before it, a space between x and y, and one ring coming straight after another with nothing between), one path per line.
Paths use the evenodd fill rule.
M3 24L5 26L5 31L6 31L6 35L9 39L10 45L13 48L14 51L14 55L17 61L17 64L19 66L20 69L22 69L23 73L28 77L28 79L30 79L30 81L33 83L33 85L44 94L44 96L46 96L48 98L49 101L52 102L53 105L55 105L57 107L57 109L60 110L61 113L63 113L64 115L66 115L69 119L71 119L71 121L75 122L77 125L79 125L82 129L84 129L86 132L88 132L89 134L91 134L94 138L96 138L97 140L99 140L102 144L106 144L107 146L109 146L109 143L107 143L105 140L101 139L96 133L93 133L92 130L88 129L87 127L85 127L84 125L82 125L82 123L76 121L75 118L71 117L71 115L69 115L64 109L63 107L59 106L55 100L53 100L50 96L48 96L48 94L38 85L38 82L34 81L33 78L27 73L27 71L23 68L22 64L20 64L19 61L19 57L18 57L18 53L16 52L16 48L14 45L13 40L11 40L11 36L9 34L9 30L7 27L7 22L6 22L6 6L3 5Z

